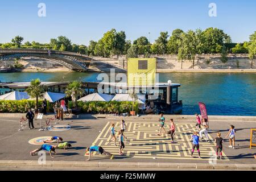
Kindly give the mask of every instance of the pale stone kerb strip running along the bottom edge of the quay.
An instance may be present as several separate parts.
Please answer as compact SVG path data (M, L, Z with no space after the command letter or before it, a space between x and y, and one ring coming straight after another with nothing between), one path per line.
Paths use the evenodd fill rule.
M256 164L201 164L201 163L134 163L134 162L63 162L51 161L38 164L36 160L0 160L0 168L19 167L70 167L70 168L148 168L148 169L219 169L219 170L256 170Z

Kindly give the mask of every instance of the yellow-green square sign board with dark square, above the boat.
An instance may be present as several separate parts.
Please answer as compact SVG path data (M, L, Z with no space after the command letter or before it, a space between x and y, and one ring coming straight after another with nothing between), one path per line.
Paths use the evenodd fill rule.
M127 86L155 85L156 58L129 58Z

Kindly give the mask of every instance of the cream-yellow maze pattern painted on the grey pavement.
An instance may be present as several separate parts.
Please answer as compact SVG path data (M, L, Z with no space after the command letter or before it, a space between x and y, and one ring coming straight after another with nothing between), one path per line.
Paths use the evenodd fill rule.
M117 146L114 146L114 142L109 143L110 133L109 130L111 122L106 123L106 126L98 135L92 145L101 146L106 151L112 152L114 155L119 153L119 143L117 139ZM176 143L171 143L170 135L167 135L162 130L162 135L158 136L159 123L158 122L126 122L127 130L125 136L128 138L124 140L125 149L124 154L127 157L133 158L159 158L159 159L198 159L191 158L192 142L190 141L195 126L192 123L176 123L176 131L174 140ZM169 130L169 126L164 126L166 131ZM120 130L120 123L115 122L115 130ZM115 134L117 135L117 133ZM209 134L208 134L209 135ZM118 137L117 137L118 138ZM210 140L213 141L212 137ZM215 154L216 146L213 142L200 142L201 159L209 160ZM93 152L95 156L100 155L97 152ZM222 154L224 159L225 154ZM124 156L124 157L125 157ZM197 157L197 151L194 152L194 157Z

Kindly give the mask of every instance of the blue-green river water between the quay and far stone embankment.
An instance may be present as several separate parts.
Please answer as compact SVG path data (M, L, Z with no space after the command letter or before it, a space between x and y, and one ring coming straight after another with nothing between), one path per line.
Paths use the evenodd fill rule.
M99 73L0 73L2 82L97 81ZM159 82L181 84L179 100L183 114L199 113L198 102L207 105L209 115L256 115L256 73L159 73Z

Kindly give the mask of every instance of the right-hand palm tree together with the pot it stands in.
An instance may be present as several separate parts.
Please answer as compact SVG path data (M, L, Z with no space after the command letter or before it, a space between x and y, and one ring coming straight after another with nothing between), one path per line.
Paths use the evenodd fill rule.
M71 112L74 114L81 112L81 108L77 108L77 98L79 96L82 96L83 93L84 93L84 90L81 89L80 81L73 81L68 84L65 94L67 95L67 97L72 98L74 108L71 109Z

